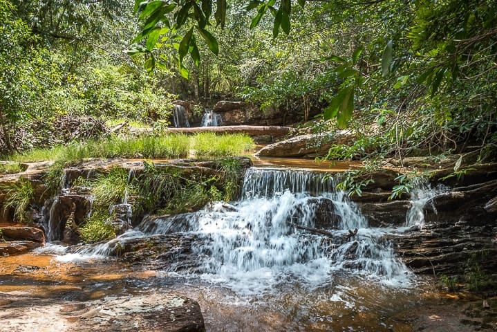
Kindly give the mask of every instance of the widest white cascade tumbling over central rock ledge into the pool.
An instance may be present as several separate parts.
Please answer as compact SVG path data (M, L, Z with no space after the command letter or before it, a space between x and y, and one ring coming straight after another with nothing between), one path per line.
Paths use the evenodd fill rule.
M368 228L357 206L344 192L334 190L333 178L323 181L322 176L252 168L247 170L238 202L147 217L118 239L84 248L79 254L109 255L118 243L129 239L181 233L196 237L191 251L199 257L200 266L187 274L200 273L206 281L241 293L268 291L288 280L320 286L344 271L386 283L408 281L409 270L382 239L384 232ZM327 235L312 232L318 228ZM355 229L357 234L347 241ZM73 259L73 255L62 259Z

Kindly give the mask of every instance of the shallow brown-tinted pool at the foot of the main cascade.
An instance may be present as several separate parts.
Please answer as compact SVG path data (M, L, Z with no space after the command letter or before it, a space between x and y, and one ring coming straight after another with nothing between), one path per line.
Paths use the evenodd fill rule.
M207 331L411 331L403 313L442 296L430 279L394 288L347 275L315 289L288 282L262 295L244 296L198 277L133 268L115 259L62 263L35 253L0 258L0 306L9 296L32 297L36 309L38 299L80 303L170 291L199 302ZM1 326L0 320L3 331Z

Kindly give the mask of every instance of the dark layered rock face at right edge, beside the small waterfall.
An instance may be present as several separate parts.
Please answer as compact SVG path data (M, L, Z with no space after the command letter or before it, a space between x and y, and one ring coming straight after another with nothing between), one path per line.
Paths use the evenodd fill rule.
M486 273L497 270L497 211L485 209L497 181L455 188L424 208L424 225L393 234L395 251L417 273L460 275L476 257Z

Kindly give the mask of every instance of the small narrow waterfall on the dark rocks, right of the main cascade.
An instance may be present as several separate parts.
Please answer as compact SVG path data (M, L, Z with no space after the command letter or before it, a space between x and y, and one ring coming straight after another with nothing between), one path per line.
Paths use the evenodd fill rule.
M436 213L433 199L447 191L448 188L444 185L431 188L431 184L426 178L417 178L414 182L413 190L411 190L411 208L406 214L406 226L424 225L424 208L426 204L431 204L431 208Z

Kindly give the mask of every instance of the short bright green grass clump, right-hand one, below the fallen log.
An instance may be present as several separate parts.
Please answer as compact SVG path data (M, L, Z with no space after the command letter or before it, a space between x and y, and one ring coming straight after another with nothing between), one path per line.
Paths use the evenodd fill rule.
M242 156L254 149L254 140L245 134L198 133L191 137L191 149L196 157Z

